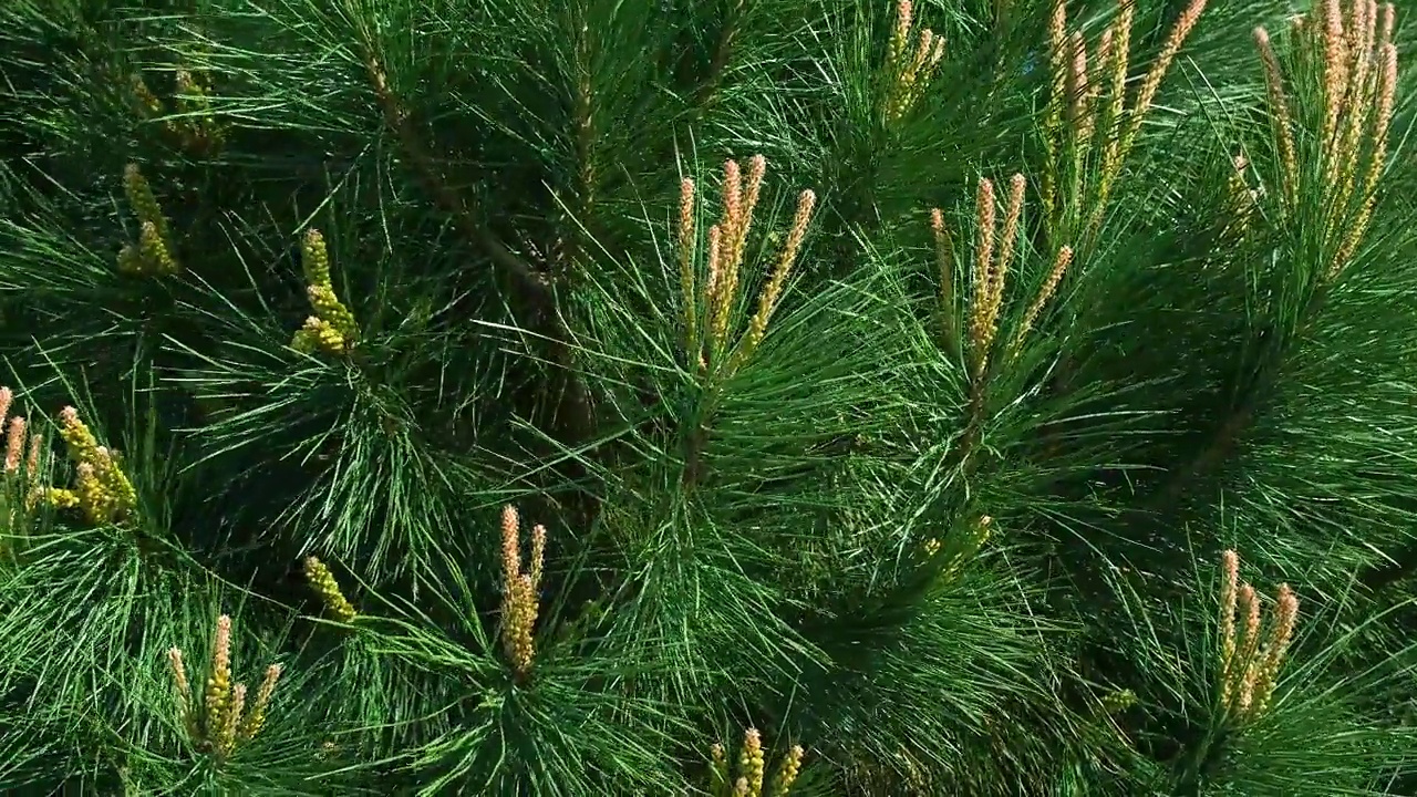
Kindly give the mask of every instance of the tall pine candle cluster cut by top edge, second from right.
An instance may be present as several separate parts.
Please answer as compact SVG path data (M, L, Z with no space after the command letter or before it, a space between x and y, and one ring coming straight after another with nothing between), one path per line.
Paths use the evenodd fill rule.
M1084 203L1090 207L1088 230L1095 233L1101 224L1142 122L1204 9L1206 0L1192 0L1180 13L1128 105L1135 0L1118 0L1117 16L1093 52L1081 31L1068 30L1067 1L1054 0L1049 23L1051 87L1044 122L1050 166L1043 204L1056 235L1064 235L1070 223L1081 218ZM1094 173L1095 184L1087 189L1084 176ZM1076 237L1076 231L1067 235Z

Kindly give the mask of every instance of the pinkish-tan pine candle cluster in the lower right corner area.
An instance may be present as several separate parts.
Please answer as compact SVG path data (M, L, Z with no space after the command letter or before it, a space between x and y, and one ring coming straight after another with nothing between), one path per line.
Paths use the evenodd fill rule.
M1240 581L1236 552L1221 554L1220 577L1220 706L1231 720L1244 723L1270 708L1294 637L1299 598L1288 584L1280 584L1270 621L1261 630L1260 596Z

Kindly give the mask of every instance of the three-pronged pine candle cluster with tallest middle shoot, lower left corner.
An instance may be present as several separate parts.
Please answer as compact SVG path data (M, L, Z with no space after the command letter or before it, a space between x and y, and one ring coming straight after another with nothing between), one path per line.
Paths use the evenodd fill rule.
M231 617L222 614L217 618L211 641L211 672L200 705L193 696L180 648L167 651L167 665L177 689L179 719L198 750L211 753L218 760L230 759L238 746L249 742L265 726L282 668L279 664L266 668L249 713L242 715L247 708L247 686L231 682Z

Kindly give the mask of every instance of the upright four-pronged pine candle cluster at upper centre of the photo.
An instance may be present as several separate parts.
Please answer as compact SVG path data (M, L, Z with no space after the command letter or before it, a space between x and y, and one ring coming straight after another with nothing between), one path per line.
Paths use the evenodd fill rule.
M721 376L737 370L757 350L767 335L768 322L777 311L778 299L786 286L788 277L796 262L806 228L812 220L816 194L805 190L798 196L796 214L788 230L786 243L777 265L768 274L768 281L758 295L758 308L748 321L748 329L730 346L730 330L738 302L738 284L747 251L748 231L752 227L752 213L758 206L762 177L768 162L761 155L748 162L747 186L737 160L724 163L723 217L708 228L708 281L700 295L697 289L696 250L696 197L694 182L680 183L679 201L679 277L684 305L686 352L690 363L699 367L716 367ZM700 319L700 306L703 318ZM704 345L707 343L707 355Z

